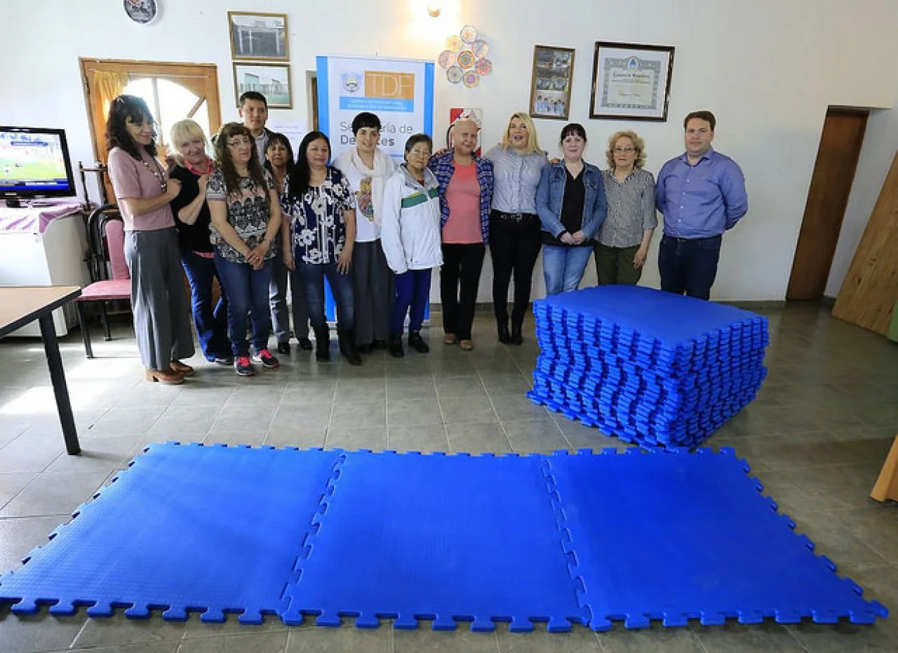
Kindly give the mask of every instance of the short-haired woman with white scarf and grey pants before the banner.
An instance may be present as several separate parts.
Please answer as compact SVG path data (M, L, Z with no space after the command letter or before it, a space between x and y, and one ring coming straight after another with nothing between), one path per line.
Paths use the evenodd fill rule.
M356 245L352 248L352 277L356 303L358 351L383 349L390 336L393 279L381 246L383 186L396 170L390 154L378 146L381 120L368 111L352 120L356 146L340 154L334 167L342 172L356 195Z

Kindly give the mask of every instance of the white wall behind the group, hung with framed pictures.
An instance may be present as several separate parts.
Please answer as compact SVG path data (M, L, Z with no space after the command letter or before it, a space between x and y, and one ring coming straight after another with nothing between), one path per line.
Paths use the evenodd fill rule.
M491 143L508 115L526 107L533 45L573 47L571 120L585 125L587 159L595 163L603 161L604 141L613 131L636 128L647 140L647 168L656 172L682 151L685 113L717 114L715 146L742 165L751 204L726 236L714 288L720 299L785 296L826 107L889 108L898 92L894 0L445 0L438 19L427 16L424 0L161 4L161 18L140 26L115 0L4 2L0 42L16 54L0 67L0 122L64 127L75 161L92 161L78 57L215 63L223 118L236 119L226 12L257 10L289 14L295 110L272 111L277 120L306 119L304 73L313 70L316 55L435 59L447 35L473 23L490 42L494 73L473 90L437 75L436 134L445 132L450 107L474 106L484 111L484 140ZM589 119L596 40L676 47L666 123ZM892 121L886 131L894 131ZM557 152L563 123L538 120L537 126L542 145ZM863 163L858 190L878 190L878 166ZM865 192L855 193L852 207L865 198ZM648 285L657 285L655 252L644 276ZM488 264L481 299L489 298L490 278ZM587 279L594 279L594 271Z

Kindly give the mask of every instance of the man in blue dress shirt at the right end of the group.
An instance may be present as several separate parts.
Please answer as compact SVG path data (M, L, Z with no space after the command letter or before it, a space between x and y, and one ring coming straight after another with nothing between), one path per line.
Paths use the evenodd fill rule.
M682 124L686 151L658 172L655 201L665 224L658 269L662 290L708 299L723 233L748 211L748 195L739 166L711 147L714 114L693 111Z

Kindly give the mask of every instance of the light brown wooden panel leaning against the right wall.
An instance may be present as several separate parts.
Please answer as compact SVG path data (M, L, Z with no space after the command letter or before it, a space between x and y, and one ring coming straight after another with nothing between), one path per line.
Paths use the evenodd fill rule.
M879 191L833 317L885 334L898 301L898 154Z

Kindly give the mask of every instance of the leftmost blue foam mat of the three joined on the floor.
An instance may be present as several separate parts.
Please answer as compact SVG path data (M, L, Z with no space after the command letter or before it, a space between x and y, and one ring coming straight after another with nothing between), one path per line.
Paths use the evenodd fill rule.
M153 445L0 579L16 613L129 617L162 608L208 622L282 611L298 543L339 458L334 451Z

